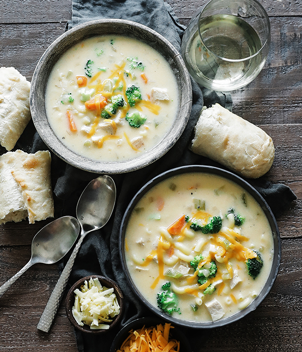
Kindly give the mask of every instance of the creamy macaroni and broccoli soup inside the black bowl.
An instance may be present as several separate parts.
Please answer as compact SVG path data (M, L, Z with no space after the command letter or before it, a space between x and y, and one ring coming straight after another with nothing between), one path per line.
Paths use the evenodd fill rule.
M259 295L271 271L273 236L243 188L216 175L185 173L137 203L125 256L135 286L152 305L167 291L177 302L168 309L175 318L214 321Z

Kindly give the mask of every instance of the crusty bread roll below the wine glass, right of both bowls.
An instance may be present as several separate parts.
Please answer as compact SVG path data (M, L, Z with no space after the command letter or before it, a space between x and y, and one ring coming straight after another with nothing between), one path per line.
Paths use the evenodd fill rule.
M251 179L270 169L275 153L268 134L219 104L202 111L190 149Z

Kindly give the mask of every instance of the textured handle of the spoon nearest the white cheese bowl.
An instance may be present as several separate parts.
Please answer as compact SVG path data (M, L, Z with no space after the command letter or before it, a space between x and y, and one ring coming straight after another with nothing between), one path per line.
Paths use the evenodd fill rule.
M46 307L41 315L40 321L37 328L41 331L48 332L55 318L56 312L59 308L63 292L65 290L75 257L78 254L78 251L81 247L85 235L82 235L79 239L79 242L74 247L70 258L68 259L65 268L62 271L61 276L59 277L58 282L56 283L52 294L49 297L49 300L46 304Z

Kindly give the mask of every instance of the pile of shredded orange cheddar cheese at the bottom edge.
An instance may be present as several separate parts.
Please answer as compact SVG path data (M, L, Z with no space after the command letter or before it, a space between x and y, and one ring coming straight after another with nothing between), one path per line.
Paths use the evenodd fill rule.
M165 323L156 327L143 326L139 330L130 330L116 352L179 352L180 342L169 338L171 324Z

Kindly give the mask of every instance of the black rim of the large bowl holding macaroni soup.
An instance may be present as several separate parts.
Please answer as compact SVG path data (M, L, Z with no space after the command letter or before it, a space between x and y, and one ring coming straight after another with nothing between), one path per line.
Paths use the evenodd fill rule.
M153 188L155 185L158 183L172 177L178 174L182 173L192 173L192 172L202 172L202 173L209 173L209 174L214 174L218 175L220 177L224 177L225 179L228 179L230 181L233 181L237 185L241 186L244 190L246 190L254 199L258 202L260 207L262 208L264 214L266 215L268 222L270 224L272 234L273 234L273 243L274 243L274 256L273 256L273 261L272 261L272 268L271 272L269 274L268 280L266 284L264 285L263 289L261 290L260 294L252 301L252 303L245 308L244 310L230 316L224 319L216 320L216 321L209 321L209 322L194 322L194 321L185 321L181 319L177 319L174 316L168 316L161 312L158 308L154 307L151 305L139 292L139 290L136 288L133 280L131 279L131 276L129 274L127 265L126 265L126 259L124 255L124 238L125 238L125 232L126 232L126 227L127 227L127 222L129 220L129 217L136 206L137 202L140 200L140 198L151 188ZM225 171L223 169L213 167L213 166L201 166L201 165L188 165L188 166L181 166L177 167L171 170L168 170L166 172L161 173L157 177L155 177L153 180L149 181L146 185L144 185L133 197L131 200L130 204L128 205L125 214L123 216L122 222L121 222L121 227L120 227L120 233L119 233L119 255L122 263L122 268L125 273L126 279L128 281L129 286L132 288L134 294L140 299L140 301L147 307L149 308L153 313L159 315L163 319L169 320L170 322L185 326L185 327L190 327L190 328L213 328L213 327L219 327L223 326L226 324L233 323L244 316L246 316L248 313L251 311L255 310L259 304L265 299L265 297L268 295L269 291L271 290L278 271L279 271L279 266L280 266L280 260L281 260L281 240L280 240L280 234L279 234L279 229L277 226L276 219L269 208L268 204L266 201L263 199L263 197L260 195L260 193L255 190L248 182L244 181L241 179L239 176L235 175L232 172Z

